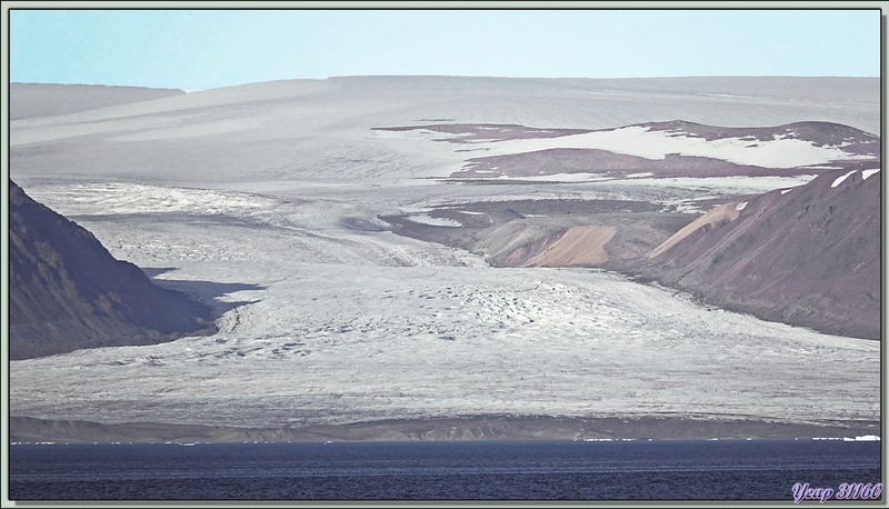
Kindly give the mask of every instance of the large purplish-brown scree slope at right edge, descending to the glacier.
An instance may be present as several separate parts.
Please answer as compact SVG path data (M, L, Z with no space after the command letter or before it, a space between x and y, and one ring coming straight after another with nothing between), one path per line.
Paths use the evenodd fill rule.
M880 172L830 171L759 196L643 270L767 320L880 339Z

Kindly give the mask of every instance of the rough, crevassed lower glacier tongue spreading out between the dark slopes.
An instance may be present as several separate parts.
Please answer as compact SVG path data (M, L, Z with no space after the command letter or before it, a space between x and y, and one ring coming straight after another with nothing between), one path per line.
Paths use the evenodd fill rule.
M404 193L419 200L421 189L380 191L366 210L314 192L168 190L149 194L178 201L137 213L114 200L142 203L147 188L124 191L51 184L33 194L76 214L114 256L169 269L159 283L211 299L221 332L16 361L13 415L253 427L473 413L879 416L878 342L711 310L595 270L491 269L338 221L411 201Z

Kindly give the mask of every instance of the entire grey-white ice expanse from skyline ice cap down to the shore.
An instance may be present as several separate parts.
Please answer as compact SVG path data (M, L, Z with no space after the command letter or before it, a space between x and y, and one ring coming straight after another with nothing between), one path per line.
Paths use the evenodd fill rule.
M879 419L877 341L703 307L595 269L491 268L378 219L441 221L424 213L543 198L687 211L805 177L470 186L440 179L480 153L562 144L466 152L436 133L372 130L440 118L585 129L681 118L878 132L879 102L833 89L789 101L792 87L753 82L453 81L439 93L428 80L360 81L261 83L12 122L11 177L26 192L221 317L210 337L13 361L11 413L259 428L490 413ZM628 143L579 141L590 140ZM835 156L816 152L793 153Z

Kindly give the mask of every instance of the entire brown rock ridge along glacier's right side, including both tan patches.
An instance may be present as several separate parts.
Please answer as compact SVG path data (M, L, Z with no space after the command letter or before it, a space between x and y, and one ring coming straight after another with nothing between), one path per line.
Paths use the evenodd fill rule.
M821 171L747 201L699 202L712 207L703 214L646 202L525 200L429 212L461 227L382 219L396 233L467 249L495 267L617 270L766 320L879 339L880 173Z

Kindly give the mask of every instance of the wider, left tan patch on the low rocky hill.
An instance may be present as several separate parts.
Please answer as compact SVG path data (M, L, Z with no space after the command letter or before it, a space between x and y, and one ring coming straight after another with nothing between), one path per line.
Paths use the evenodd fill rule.
M570 267L608 260L605 246L615 237L615 227L572 227L522 267Z

